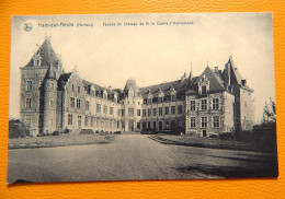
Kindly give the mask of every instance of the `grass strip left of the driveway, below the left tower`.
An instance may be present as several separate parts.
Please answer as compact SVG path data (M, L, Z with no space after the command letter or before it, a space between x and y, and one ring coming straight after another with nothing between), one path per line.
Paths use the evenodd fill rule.
M66 145L106 144L115 134L59 134L9 139L9 149L55 148Z

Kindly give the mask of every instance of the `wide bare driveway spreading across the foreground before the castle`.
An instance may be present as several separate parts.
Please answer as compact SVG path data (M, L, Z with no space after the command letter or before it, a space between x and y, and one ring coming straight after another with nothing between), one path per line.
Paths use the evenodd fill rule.
M8 182L213 178L223 177L218 168L264 165L264 155L270 154L166 145L147 136L122 134L110 144L9 150Z

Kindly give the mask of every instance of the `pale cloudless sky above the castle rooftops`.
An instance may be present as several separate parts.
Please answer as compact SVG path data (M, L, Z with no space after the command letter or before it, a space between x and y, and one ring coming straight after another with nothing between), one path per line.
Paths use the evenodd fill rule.
M26 23L31 31L23 28ZM73 26L52 27L60 23ZM231 55L254 90L256 122L265 102L275 101L272 13L13 16L11 27L12 118L20 116L20 68L46 36L65 72L77 66L80 78L102 86L124 89L129 78L139 86L173 81L189 73L191 66L193 75L207 65L223 70Z

